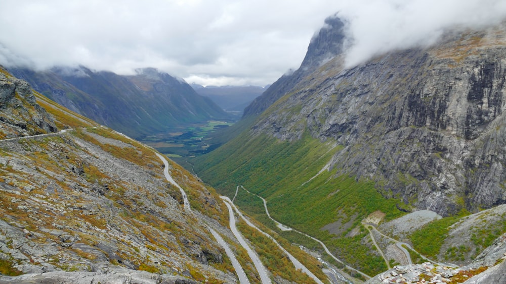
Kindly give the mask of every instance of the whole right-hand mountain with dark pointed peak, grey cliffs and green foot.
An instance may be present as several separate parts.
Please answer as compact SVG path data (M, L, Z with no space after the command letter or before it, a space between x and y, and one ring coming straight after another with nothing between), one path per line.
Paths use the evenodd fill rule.
M301 68L252 102L244 131L194 159L195 172L225 195L237 185L260 195L274 219L371 276L404 260L382 255L368 230L423 209L439 219L390 237L441 262L471 263L506 232L501 217L483 216L467 227L481 229L452 237L471 213L506 203L506 23L455 28L431 46L345 68L343 24L329 19ZM235 202L267 218L248 194ZM382 240L385 250L395 245Z

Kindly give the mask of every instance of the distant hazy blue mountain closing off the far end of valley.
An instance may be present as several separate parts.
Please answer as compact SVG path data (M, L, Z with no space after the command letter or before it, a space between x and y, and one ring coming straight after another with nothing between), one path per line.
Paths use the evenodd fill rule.
M190 84L195 91L204 97L209 97L221 108L227 111L242 113L244 108L256 97L260 96L265 87L259 86L201 86Z

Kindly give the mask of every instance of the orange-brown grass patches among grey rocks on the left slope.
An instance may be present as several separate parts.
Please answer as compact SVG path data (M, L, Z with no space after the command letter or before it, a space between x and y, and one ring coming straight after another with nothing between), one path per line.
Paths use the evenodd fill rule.
M3 72L8 76L11 76L1 68L0 72ZM26 147L32 147L33 149L38 149L38 151L32 151L31 153L26 154L27 156L31 157L28 158L27 160L36 161L36 165L38 168L51 169L51 171L55 173L59 173L62 168L71 168L74 164L82 164L83 172L81 176L84 177L86 182L93 183L97 186L103 185L108 186L108 190L104 194L103 198L108 199L107 204L110 207L108 209L113 208L113 210L111 209L113 213L105 209L99 210L99 212L101 213L97 215L81 215L79 214L80 211L76 211L77 212L76 214L78 215L72 215L74 212L67 213L64 218L65 227L71 229L74 223L89 222L93 225L98 226L100 229L106 229L108 222L107 220L112 220L110 222L118 220L119 220L118 222L127 221L129 223L128 225L124 225L124 223L121 223L121 225L119 226L123 227L123 229L125 230L130 229L140 231L139 236L142 234L149 241L149 243L146 242L145 246L146 248L149 249L149 251L171 253L172 257L175 256L175 252L171 251L172 248L168 247L167 245L169 243L168 241L166 242L159 241L160 239L163 240L170 239L164 234L169 234L172 236L174 235L184 236L188 240L195 239L195 241L191 242L193 242L194 244L200 244L204 249L207 249L207 251L213 250L212 246L203 241L206 239L206 237L200 236L199 234L197 234L197 231L193 230L193 228L201 226L201 224L198 224L193 216L187 216L186 218L184 218L185 220L184 222L179 222L180 221L179 219L167 222L165 216L160 217L160 215L158 214L157 210L159 210L159 208L163 209L166 208L166 204L164 204L163 202L163 200L165 200L164 198L168 199L175 198L176 200L180 201L180 204L182 203L182 198L179 190L177 190L173 186L167 185L166 188L165 187L158 188L160 190L159 192L147 191L143 188L142 185L131 184L131 182L128 179L125 180L117 178L112 179L111 177L108 176L107 174L108 172L104 170L104 168L100 168L100 166L103 164L98 163L97 165L95 165L93 162L81 161L83 158L75 154L74 151L86 152L88 150L80 148L76 143L72 143L72 139L73 137L76 137L82 140L86 140L90 143L96 144L103 151L112 154L116 158L128 160L134 164L139 165L140 167L145 168L146 171L152 172L153 180L161 179L163 180L164 183L166 183L164 177L161 175L163 165L160 159L154 155L154 151L152 149L145 147L141 143L125 138L109 128L98 127L100 125L97 124L96 122L83 116L77 115L76 113L58 105L54 101L50 100L49 98L39 93L34 92L34 95L37 99L37 102L53 116L58 129L76 129L76 130L65 132L65 134L62 134L63 138L59 136L51 136L44 139L22 140L20 144L24 144L26 145ZM105 138L104 141L106 141L107 139L121 141L125 145L128 144L128 146L120 147L117 145L109 144L107 142L99 141L96 139L97 136ZM60 147L58 151L54 151L52 147L56 147L56 145L63 145L63 146ZM4 149L0 149L0 155L4 156L10 154L11 153L4 152ZM92 160L95 161L95 159ZM189 201L191 203L193 211L194 212L199 211L200 213L207 215L210 218L214 218L223 226L228 227L228 210L226 210L226 208L225 209L223 208L224 207L223 202L220 201L220 198L216 193L216 191L213 188L204 187L196 177L192 176L180 165L174 163L171 160L169 160L169 163L171 164L170 170L171 175L173 176L175 181L179 185L181 185L182 188L185 190L185 192L188 194ZM4 172L16 173L15 169L13 169L12 167L2 166L1 164L0 164L0 172L3 173L0 176L5 176ZM16 173L16 175L21 177L22 174ZM53 177L49 178L53 179ZM68 175L66 173L65 179L67 181L69 180L73 181L73 179L76 179L76 181L81 182L82 187L88 186L82 180L79 180L79 177L77 177L77 175L73 175L72 173L69 173ZM14 179L11 180L10 183L12 183L13 186L17 185L15 184L15 182L17 183L17 181L15 181ZM5 180L2 177L0 177L0 182L5 182ZM66 194L69 194L69 196L72 195L73 200L78 200L82 202L86 201L85 199L83 199L85 201L81 200L81 197L83 196L81 192L71 190L68 186L66 186L66 184L62 182L55 181L55 183L64 188ZM36 191L32 191L32 193L37 192L39 194L44 194L44 192L38 192L37 190L40 189L37 188ZM140 197L144 195L146 195L146 199L141 200ZM2 198L0 199L2 199L2 202L4 202L4 204L11 204L11 198L14 196L23 199L26 197L11 193L3 194L0 196L2 196ZM55 201L54 198L51 200L52 202ZM153 202L153 204L150 204L151 201ZM59 201L56 200L55 202ZM139 204L139 206L144 206L143 209L140 210L140 207L137 207L138 205L136 204ZM97 203L97 206L100 206L100 204ZM0 211L7 210L6 209L7 207L9 206L0 207L0 209L2 209ZM11 207L15 206L11 205ZM146 208L151 208L154 211L153 210L146 211L145 210ZM26 217L27 222L33 224L34 226L35 223L28 218L29 216L27 216L27 214L24 211L15 209L13 211L10 208L9 210L10 211L8 213L3 212L2 215L4 217L15 217L15 218ZM120 213L119 215L116 215L115 213L117 213L118 210L120 211ZM47 216L51 217L50 219L48 218L48 222L55 222L53 214L57 214L57 212L51 213L48 212ZM104 218L103 215L101 214L109 214L108 219L106 220L106 218ZM39 217L43 218L41 216ZM51 224L45 223L45 225L53 226L52 223ZM35 228L32 229L36 230ZM100 242L99 238L101 236L99 235L100 234L96 236L86 235L85 238L83 237L84 235L81 234L81 239L82 242L84 243ZM223 237L226 238L226 236ZM197 238L198 241L196 240ZM284 240L283 242L284 245L286 246L287 243ZM234 248L237 254L237 258L241 262L242 267L245 269L245 272L250 277L251 282L255 282L252 281L252 279L257 277L256 271L255 268L251 266L251 261L249 260L245 250L234 242L229 243ZM124 257L124 259L128 259L130 262L134 264L138 264L140 270L146 270L150 272L159 272L159 271L168 272L168 269L170 269L170 267L167 267L163 262L155 263L156 265L153 264L149 259L149 255L147 256L147 258L146 255L143 256L138 255L139 254L138 248L134 247L133 245L127 246L124 250L127 252L126 254L128 255L125 254L122 257ZM306 255L306 253L300 251L298 248L296 248L296 250L297 253L294 254L296 255L298 254L299 258L304 258L307 263L311 264L312 261L313 263L312 265L309 265L309 267L311 267L313 270L318 270L317 265L315 264L316 259L309 257L308 255ZM183 253L183 251L181 251L181 253ZM304 277L304 275L301 275L301 272L298 272L294 269L291 263L286 262L286 258L280 255L278 251L276 252L271 251L271 253L276 255L273 258L276 261L276 263L283 262L284 264L283 271L287 275L293 274ZM188 257L194 258L195 255L188 255ZM280 257L280 259L276 259L276 257ZM225 272L233 272L231 263L225 255L223 263L215 263L211 261L209 262L209 264L211 266L214 266L216 269ZM115 265L117 265L117 263L115 263ZM74 269L74 268L68 266L65 269ZM188 269L190 271L190 274L192 274L192 276L195 279L199 281L204 280L202 274L199 273L198 269L194 269L194 267L188 267ZM0 261L0 272L3 274L19 273L17 270L12 268L11 262L3 262L3 261ZM318 271L314 272L318 273ZM325 278L324 275L319 276L322 279ZM213 278L209 278L207 280L209 280L209 282L214 282Z

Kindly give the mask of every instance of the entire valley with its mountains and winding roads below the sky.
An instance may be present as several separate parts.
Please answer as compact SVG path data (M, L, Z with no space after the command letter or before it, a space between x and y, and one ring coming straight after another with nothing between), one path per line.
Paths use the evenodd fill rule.
M0 66L0 284L506 281L506 21L350 25L265 88Z

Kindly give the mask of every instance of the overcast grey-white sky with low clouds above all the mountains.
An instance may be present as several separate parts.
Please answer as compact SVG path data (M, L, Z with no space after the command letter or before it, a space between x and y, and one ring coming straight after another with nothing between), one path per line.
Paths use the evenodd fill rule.
M335 12L350 24L351 66L454 24L497 22L506 0L0 0L0 64L155 67L188 83L263 86L300 66Z

